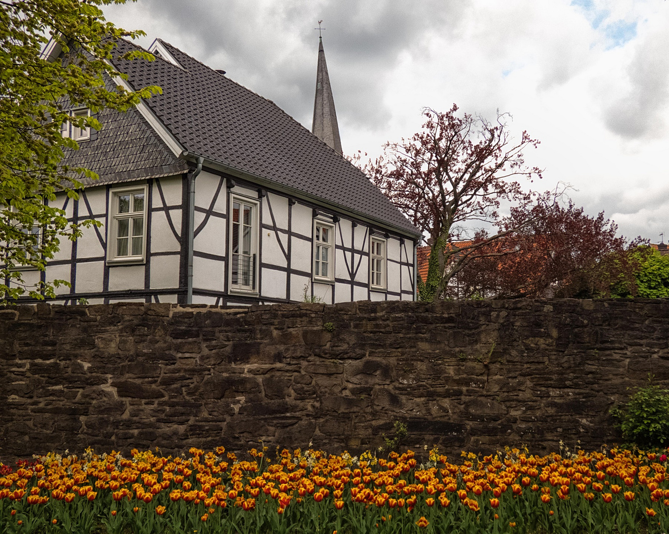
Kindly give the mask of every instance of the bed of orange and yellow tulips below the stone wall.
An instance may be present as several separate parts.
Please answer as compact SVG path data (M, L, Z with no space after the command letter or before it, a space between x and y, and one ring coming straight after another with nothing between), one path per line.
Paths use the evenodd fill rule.
M421 451L422 452L422 451ZM666 454L219 447L0 464L0 533L668 533Z

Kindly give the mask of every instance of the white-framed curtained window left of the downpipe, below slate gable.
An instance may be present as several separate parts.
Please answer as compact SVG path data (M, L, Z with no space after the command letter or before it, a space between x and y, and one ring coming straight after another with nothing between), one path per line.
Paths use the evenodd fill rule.
M110 195L109 262L143 262L147 245L147 185L118 187Z

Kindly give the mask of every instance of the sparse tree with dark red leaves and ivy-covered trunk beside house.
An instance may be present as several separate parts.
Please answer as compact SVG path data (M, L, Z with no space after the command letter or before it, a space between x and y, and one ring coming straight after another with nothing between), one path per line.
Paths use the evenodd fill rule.
M496 122L480 116L457 116L458 106L443 113L423 110L425 123L411 139L387 143L377 161L363 170L413 224L432 238L431 274L421 298L440 298L449 281L475 258L512 254L491 248L529 224L533 195L523 191L518 177L541 178L522 155L539 141L522 132L514 141L508 114ZM502 217L502 203L514 207L515 217ZM492 235L484 228L496 228ZM466 241L465 241L466 240Z

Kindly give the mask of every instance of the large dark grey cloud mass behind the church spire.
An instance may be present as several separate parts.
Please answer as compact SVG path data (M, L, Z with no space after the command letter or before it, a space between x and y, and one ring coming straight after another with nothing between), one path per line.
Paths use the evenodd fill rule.
M381 130L391 118L383 105L389 72L403 51L414 50L429 31L452 32L468 1L427 0L139 0L145 19L137 27L163 25L161 37L244 86L274 100L311 125L318 32L323 42L340 122ZM108 17L123 7L108 9ZM160 21L160 24L157 22ZM176 32L176 35L175 35ZM345 147L345 151L353 147Z

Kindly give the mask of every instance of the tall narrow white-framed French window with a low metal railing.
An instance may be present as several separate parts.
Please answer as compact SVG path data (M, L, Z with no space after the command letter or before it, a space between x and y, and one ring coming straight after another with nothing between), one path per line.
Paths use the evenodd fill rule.
M231 197L230 289L258 292L258 210L257 201Z

